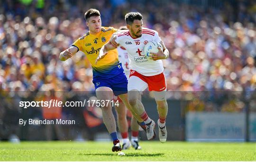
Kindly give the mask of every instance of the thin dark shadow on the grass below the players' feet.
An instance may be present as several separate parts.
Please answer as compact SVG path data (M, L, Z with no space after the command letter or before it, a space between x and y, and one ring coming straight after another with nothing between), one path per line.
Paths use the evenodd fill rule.
M117 156L117 153L79 153L78 155L99 155L99 156ZM140 157L140 156L160 156L164 153L126 153L125 156Z

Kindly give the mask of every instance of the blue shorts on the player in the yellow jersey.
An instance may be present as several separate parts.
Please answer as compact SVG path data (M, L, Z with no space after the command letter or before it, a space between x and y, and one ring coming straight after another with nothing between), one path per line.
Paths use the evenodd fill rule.
M115 96L128 92L128 80L124 72L121 72L112 78L95 77L92 82L95 86L95 90L99 87L109 87L113 90Z

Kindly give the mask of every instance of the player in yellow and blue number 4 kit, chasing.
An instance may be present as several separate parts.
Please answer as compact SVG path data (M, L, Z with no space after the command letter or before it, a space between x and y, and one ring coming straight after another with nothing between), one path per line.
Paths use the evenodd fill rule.
M92 82L95 86L97 99L107 102L112 100L114 93L114 95L119 96L126 107L131 110L127 96L128 81L121 63L119 63L117 50L109 51L106 57L95 64L101 47L110 41L110 37L118 29L113 27L101 27L101 14L97 9L87 10L84 17L89 31L84 36L77 39L71 47L61 52L60 60L65 61L78 51L82 51L89 59L93 69ZM117 137L116 122L111 107L111 104L101 105L103 122L110 133L114 144L112 151L115 152L121 151L121 145ZM131 111L132 114L136 115L133 110ZM142 122L140 123L141 125L144 125L143 120L139 116L136 116L136 119L138 122Z

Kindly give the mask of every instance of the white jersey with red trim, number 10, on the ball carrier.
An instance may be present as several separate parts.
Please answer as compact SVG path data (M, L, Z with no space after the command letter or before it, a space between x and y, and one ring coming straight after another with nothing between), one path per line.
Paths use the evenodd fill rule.
M155 30L142 29L142 36L131 37L129 31L125 31L117 36L116 42L123 46L130 60L129 68L141 73L144 76L158 75L164 71L162 60L150 60L144 54L144 47L149 41L160 42L161 38Z

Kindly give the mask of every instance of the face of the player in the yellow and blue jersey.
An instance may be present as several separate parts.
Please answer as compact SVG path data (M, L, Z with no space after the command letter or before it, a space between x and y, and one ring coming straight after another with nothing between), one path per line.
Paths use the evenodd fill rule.
M87 27L91 34L97 34L101 31L101 17L100 16L92 16L86 21Z

